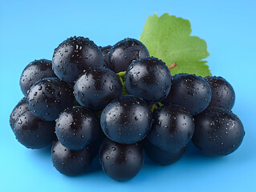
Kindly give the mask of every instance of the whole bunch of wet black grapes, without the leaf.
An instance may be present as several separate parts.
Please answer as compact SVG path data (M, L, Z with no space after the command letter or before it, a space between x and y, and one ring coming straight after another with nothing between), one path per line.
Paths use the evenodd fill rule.
M30 62L20 86L24 98L10 114L18 142L49 145L62 174L82 174L98 154L118 181L133 178L144 151L160 165L177 162L189 141L223 156L242 143L242 122L230 110L234 90L221 77L171 76L138 40L98 47L88 38L59 44L52 61Z

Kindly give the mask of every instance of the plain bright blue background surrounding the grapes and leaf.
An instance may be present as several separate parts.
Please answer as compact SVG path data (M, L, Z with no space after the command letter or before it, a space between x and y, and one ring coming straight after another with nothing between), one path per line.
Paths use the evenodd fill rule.
M0 1L0 191L256 191L256 14L255 1ZM22 98L19 78L34 59L51 59L60 42L74 35L99 46L139 38L149 15L187 18L192 34L205 39L213 75L236 91L234 113L246 136L227 157L209 158L192 145L172 166L148 158L128 182L100 170L67 177L51 164L50 149L28 150L14 138L9 114Z

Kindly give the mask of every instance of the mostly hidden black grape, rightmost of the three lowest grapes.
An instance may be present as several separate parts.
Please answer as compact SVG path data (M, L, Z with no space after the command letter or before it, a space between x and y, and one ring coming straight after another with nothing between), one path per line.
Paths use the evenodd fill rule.
M143 146L148 158L161 166L168 166L177 162L181 159L182 155L185 154L186 150L186 147L181 147L180 149L161 150L157 146L152 145L151 142L148 142L147 138L143 140Z

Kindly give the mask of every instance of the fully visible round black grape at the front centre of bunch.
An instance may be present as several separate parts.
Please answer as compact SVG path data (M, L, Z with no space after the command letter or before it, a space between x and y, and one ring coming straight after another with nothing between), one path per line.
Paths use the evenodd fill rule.
M148 104L133 95L124 95L110 102L100 117L104 134L115 142L139 142L149 132L152 113Z

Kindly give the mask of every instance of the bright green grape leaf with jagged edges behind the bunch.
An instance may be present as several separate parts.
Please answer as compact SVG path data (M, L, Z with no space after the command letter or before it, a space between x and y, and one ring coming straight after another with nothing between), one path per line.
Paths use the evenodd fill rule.
M171 74L196 74L202 77L211 75L207 58L206 42L198 37L190 36L189 20L163 14L149 16L144 24L140 42L148 48L149 54L160 58L167 66L177 62Z

